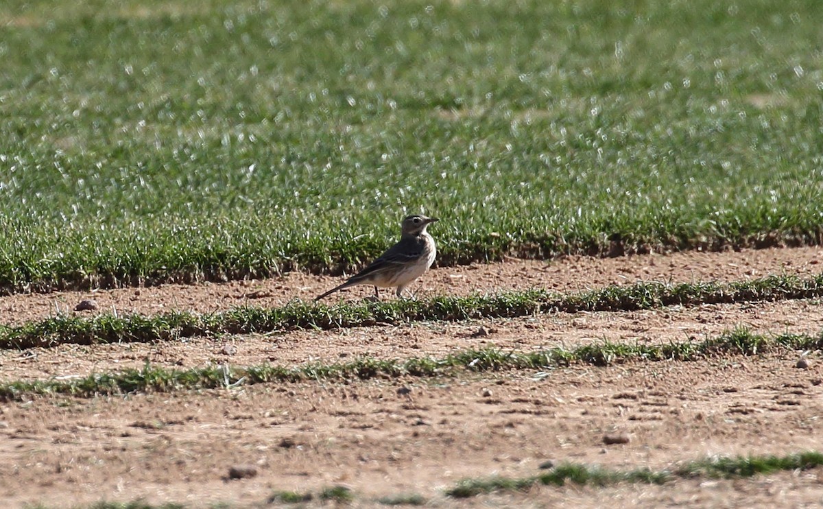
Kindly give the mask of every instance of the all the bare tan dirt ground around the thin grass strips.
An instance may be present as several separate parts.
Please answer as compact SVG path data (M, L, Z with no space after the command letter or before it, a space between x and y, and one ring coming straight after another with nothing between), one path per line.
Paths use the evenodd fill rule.
M422 278L420 295L809 275L819 272L821 256L818 249L798 249L551 263L513 260L437 269ZM214 311L244 303L273 306L313 297L337 282L289 274L225 285L21 295L0 298L0 311L5 323L20 323L90 296L103 309L142 313ZM251 292L259 292L257 298L249 297ZM359 298L369 292L362 288L341 295ZM288 366L358 356L441 356L492 344L528 351L574 348L603 339L701 340L737 325L773 334L816 334L821 323L823 306L818 301L783 301L154 344L65 345L0 352L0 381L86 376L141 367L146 359L181 369L209 363ZM489 334L475 334L480 326ZM813 505L823 497L823 469L663 486L536 487L466 501L444 496L444 488L459 479L527 477L539 473L546 460L665 469L710 455L823 450L823 363L818 353L807 353L809 367L797 368L802 354L95 399L36 397L0 406L0 500L3 507L78 507L136 498L191 507L215 502L257 507L265 505L272 492L291 490L314 493L309 505L320 505L317 493L343 485L355 493L354 507L411 493L424 496L433 507L602 507L616 500L640 507ZM607 433L625 434L630 441L605 445ZM230 466L246 464L256 467L256 477L226 479Z

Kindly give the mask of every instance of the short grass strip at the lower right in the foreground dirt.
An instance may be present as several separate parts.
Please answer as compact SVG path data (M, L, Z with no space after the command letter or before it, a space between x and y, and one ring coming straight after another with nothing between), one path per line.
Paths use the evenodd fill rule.
M780 470L812 469L823 465L823 454L816 451L793 455L751 455L734 458L712 458L686 463L672 470L653 471L649 469L613 470L589 465L565 463L551 469L546 474L521 479L493 477L489 479L466 479L446 494L449 497L476 497L485 493L500 491L522 491L535 484L563 486L565 483L579 485L610 486L616 483L663 484L677 479L709 478L734 479L771 474Z

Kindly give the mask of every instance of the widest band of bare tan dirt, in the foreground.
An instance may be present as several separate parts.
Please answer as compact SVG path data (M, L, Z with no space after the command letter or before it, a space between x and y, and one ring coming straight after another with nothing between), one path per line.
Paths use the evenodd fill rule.
M528 476L546 460L663 469L706 455L823 449L820 377L821 367L798 370L793 358L724 357L434 384L376 380L38 398L0 411L0 497L9 507L137 497L243 507L272 490L317 493L342 484L363 505L398 493L451 505L443 489L458 479ZM606 445L607 434L628 443ZM258 475L224 479L239 464L254 465ZM758 483L746 500L779 499ZM814 484L796 485L809 496L819 493ZM678 486L609 489L640 502L654 490L657 498L648 500L673 502L682 500ZM609 493L541 489L584 506ZM703 493L698 499L714 499L702 483L690 489Z

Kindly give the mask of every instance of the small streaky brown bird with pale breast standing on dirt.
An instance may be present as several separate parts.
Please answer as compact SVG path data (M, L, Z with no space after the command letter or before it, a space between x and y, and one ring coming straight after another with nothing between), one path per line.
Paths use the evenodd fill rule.
M403 290L416 278L420 278L435 262L437 255L435 239L431 238L428 231L425 231L426 226L435 221L437 221L435 217L407 216L403 219L402 234L397 244L388 248L368 267L351 276L346 283L323 293L314 301L319 301L337 290L358 284L374 285L374 297L376 298L380 297L378 287L398 287L398 297L402 297Z

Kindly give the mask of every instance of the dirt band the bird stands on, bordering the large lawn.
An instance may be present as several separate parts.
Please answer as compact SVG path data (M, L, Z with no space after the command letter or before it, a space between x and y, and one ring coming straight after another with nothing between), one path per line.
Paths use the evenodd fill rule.
M574 292L639 281L732 281L780 273L807 276L823 270L821 261L823 250L818 247L723 253L690 251L611 259L575 256L548 262L509 260L434 269L411 289L418 297L495 294L532 287ZM168 311L221 311L243 305L282 306L295 299L311 300L341 281L342 278L287 273L282 278L230 283L19 294L0 297L0 324L17 325L55 313L75 313L74 308L82 300L94 300L98 306L97 311L82 311L84 315L112 311L156 315ZM327 297L327 302L359 300L372 292L370 287L355 287ZM384 290L383 296L393 298L393 293Z

